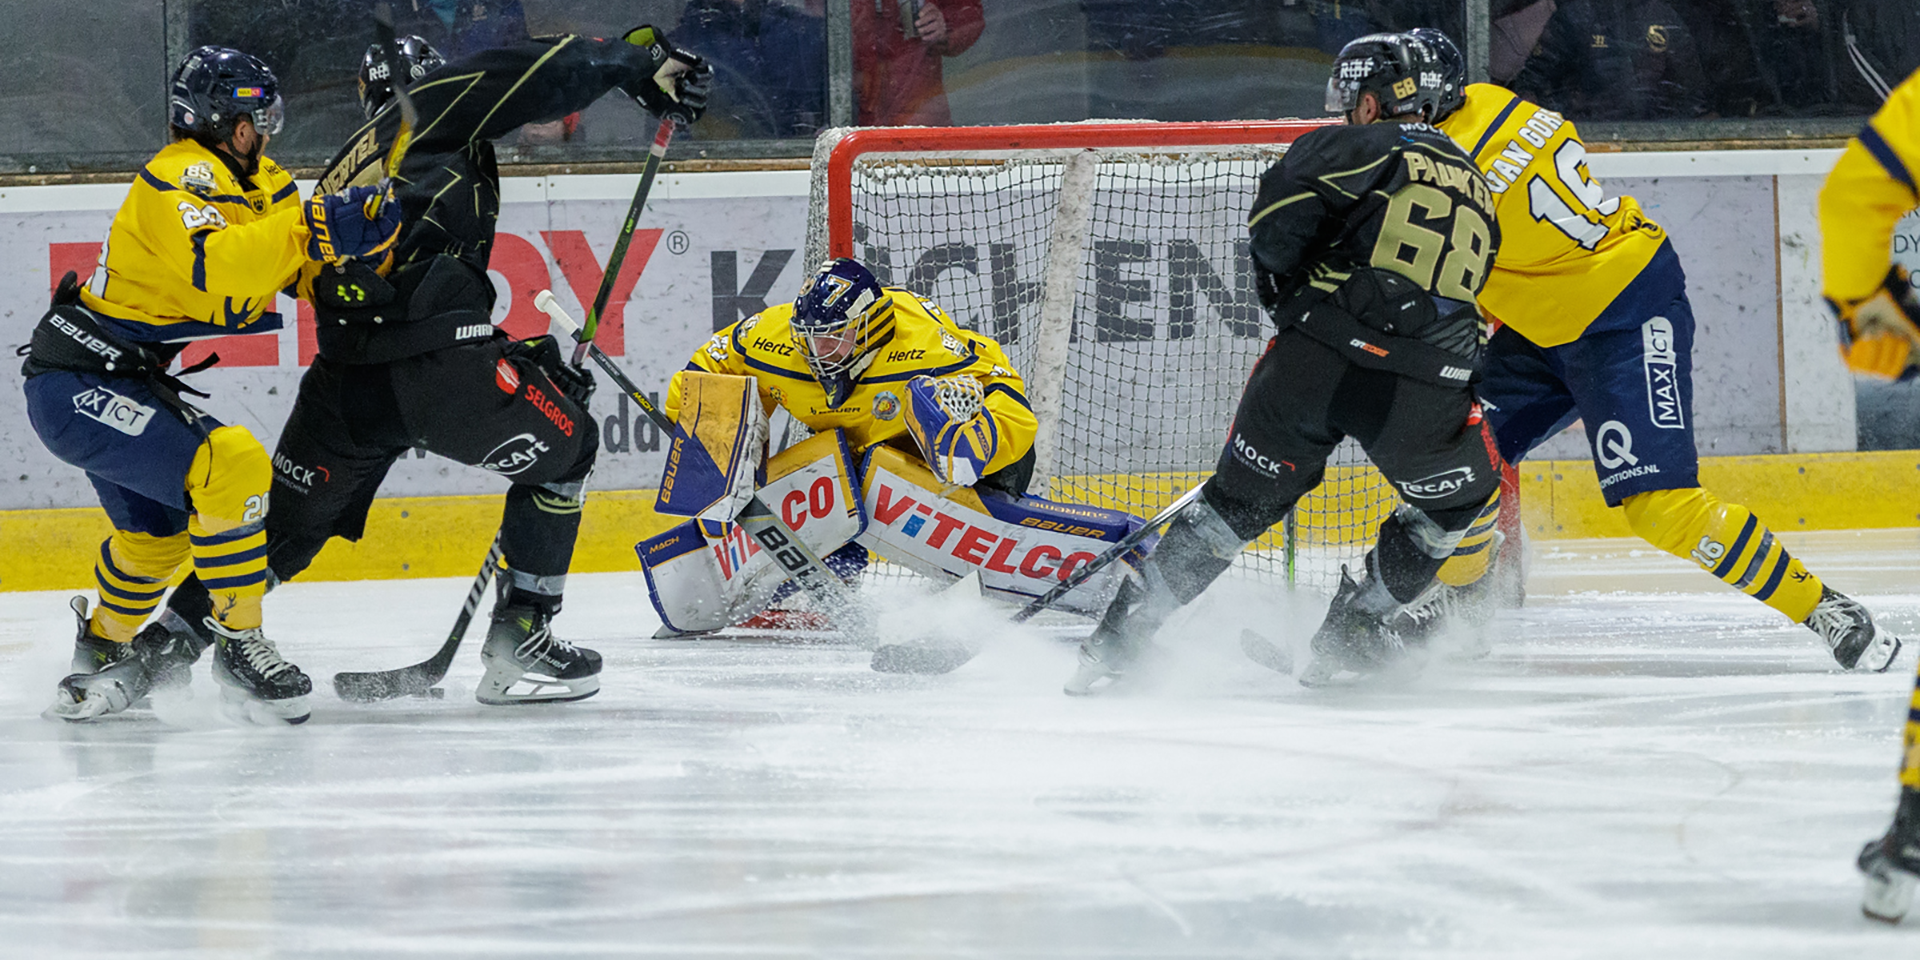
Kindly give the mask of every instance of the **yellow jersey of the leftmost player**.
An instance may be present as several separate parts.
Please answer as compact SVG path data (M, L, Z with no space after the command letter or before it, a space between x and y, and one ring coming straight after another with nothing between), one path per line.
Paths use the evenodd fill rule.
M269 309L303 263L290 173L261 157L242 179L211 148L177 140L134 177L81 303L136 342L276 330Z

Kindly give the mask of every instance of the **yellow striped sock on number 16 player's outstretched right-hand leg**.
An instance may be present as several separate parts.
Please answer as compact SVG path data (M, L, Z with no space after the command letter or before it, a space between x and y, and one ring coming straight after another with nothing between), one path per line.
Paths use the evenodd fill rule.
M1620 501L1626 522L1647 543L1697 563L1734 589L1805 620L1820 603L1809 572L1753 511L1701 488L1649 490Z

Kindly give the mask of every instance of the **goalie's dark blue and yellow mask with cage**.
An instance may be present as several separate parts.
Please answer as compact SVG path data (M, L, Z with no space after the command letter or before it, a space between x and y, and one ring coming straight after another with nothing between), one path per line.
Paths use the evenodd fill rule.
M887 294L858 261L829 259L801 286L793 301L793 344L806 369L839 407L852 394L852 378L874 363L874 351L891 334L876 323Z

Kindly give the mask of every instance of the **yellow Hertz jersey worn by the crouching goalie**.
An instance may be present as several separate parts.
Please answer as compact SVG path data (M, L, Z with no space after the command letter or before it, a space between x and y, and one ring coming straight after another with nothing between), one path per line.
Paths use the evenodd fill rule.
M1025 382L991 336L966 330L933 301L908 290L885 288L887 301L874 311L872 363L854 376L839 407L806 369L793 342L793 303L768 307L712 336L687 363L689 371L756 376L768 413L785 407L814 432L845 430L854 449L893 444L914 453L906 382L914 376L968 374L985 388L985 413L998 432L998 445L981 474L1012 467L1033 449L1039 420L1027 405ZM666 388L662 411L680 417L680 374Z

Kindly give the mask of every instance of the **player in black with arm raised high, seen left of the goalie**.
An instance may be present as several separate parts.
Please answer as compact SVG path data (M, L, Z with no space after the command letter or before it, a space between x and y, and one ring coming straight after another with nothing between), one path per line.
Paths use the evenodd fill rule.
M280 432L267 564L290 580L330 536L359 540L388 467L420 447L513 480L501 518L499 603L480 659L482 703L576 701L599 691L601 657L559 639L582 490L599 449L593 382L549 338L493 328L488 255L499 215L492 140L564 117L620 88L660 117L699 119L710 67L639 27L622 40L549 36L445 63L407 36L361 65L369 123L321 175L321 192L376 182L401 127L390 77L419 109L394 175L405 223L382 263L307 269L319 357ZM186 582L163 628L198 624L205 589Z

